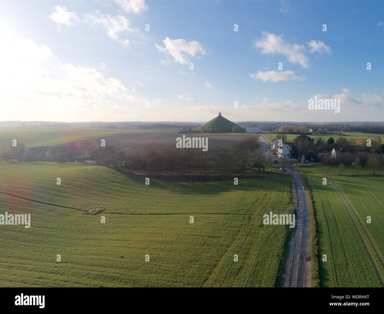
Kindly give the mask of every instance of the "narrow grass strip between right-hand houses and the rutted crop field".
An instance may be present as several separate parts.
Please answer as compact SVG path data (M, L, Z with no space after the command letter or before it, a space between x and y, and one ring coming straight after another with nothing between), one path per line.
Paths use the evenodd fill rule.
M306 164L297 165L294 169L301 174L340 174L338 165L323 165L323 164ZM384 167L375 169L375 174L383 174ZM345 168L341 171L341 174L356 174L356 169L352 166L345 165ZM362 166L358 169L358 174L372 174L372 168L368 166Z

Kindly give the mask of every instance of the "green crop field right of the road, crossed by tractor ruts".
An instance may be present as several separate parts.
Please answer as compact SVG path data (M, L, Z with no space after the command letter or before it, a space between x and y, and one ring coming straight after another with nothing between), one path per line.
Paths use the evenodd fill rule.
M382 255L384 231L382 224L384 207L382 205L384 204L378 196L382 195L380 191L384 188L384 179L382 177L340 176L327 176L327 178L327 185L323 185L323 176L306 176L312 190L318 221L321 286L381 287L379 273L383 274L384 269L369 238L364 233L364 229L359 225L351 208L348 207L345 197L358 213L379 255ZM353 220L329 179L333 185L336 183L344 193L345 196L340 194ZM371 216L371 224L366 223L367 216ZM362 236L359 235L354 221ZM367 247L364 246L362 239ZM323 261L323 255L327 256L326 261Z

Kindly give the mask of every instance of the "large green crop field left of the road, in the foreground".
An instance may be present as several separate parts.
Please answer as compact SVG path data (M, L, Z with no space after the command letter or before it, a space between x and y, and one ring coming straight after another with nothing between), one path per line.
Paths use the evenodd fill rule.
M144 182L92 165L1 162L0 213L31 214L31 226L0 225L0 286L278 285L291 229L262 216L272 196L293 208L289 176ZM94 207L105 211L83 215Z

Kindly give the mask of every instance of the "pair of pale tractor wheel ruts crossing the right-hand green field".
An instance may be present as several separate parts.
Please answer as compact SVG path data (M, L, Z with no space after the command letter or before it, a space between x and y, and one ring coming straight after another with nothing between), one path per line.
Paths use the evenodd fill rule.
M373 253L372 253L371 249L368 247L367 242L366 242L366 240L364 239L364 237L363 237L363 235L362 235L362 232L361 232L360 228L358 227L357 223L356 223L355 220L353 219L353 216L352 216L351 212L348 210L348 207L347 207L346 203L344 202L343 198L341 197L341 195L343 195L343 197L345 198L345 200L346 200L346 202L348 203L349 207L351 208L352 212L354 213L355 217L356 217L357 220L359 221L359 223L360 223L362 229L364 230L364 232L365 232L365 234L366 234L366 236L367 236L367 238L368 238L368 240L369 240L369 243L371 243L371 246L372 246L374 252L376 253L377 258L379 258L379 261L381 262L382 266L384 266L384 263L383 263L383 260L382 260L382 258L381 258L381 255L378 253L378 250L377 250L376 246L373 244L371 237L368 235L367 230L364 228L364 225L362 224L362 222L361 222L361 220L360 220L358 214L356 213L356 211L355 211L354 208L352 207L352 205L351 205L351 203L349 202L348 198L344 195L344 193L340 190L340 188L338 187L338 185L337 185L332 179L329 179L329 178L328 178L328 181L329 181L329 183L331 183L332 187L334 188L335 192L337 193L337 195L339 196L341 202L343 203L345 209L347 210L349 216L351 217L351 219L352 219L352 221L353 221L353 224L355 225L356 230L357 230L358 233L359 233L359 236L360 236L360 238L361 238L361 241L362 241L362 243L364 244L364 246L365 246L365 248L366 248L366 250L367 250L367 253L368 253L369 257L371 258L372 264L373 264L374 268L376 269L377 274L379 275L381 284L384 286L384 278L383 278L383 275L382 275L382 273L381 273L381 271L380 271L380 269L379 269L379 266L378 266L377 263L376 263L376 260L374 259ZM333 183L332 183L332 182L333 182ZM336 186L337 190L336 190L335 186ZM338 192L338 190L339 190L340 193ZM341 195L340 195L340 194L341 194Z

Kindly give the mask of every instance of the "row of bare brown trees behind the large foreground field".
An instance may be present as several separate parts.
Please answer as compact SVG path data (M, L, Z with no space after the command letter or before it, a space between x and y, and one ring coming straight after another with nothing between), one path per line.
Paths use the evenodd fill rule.
M143 170L157 172L242 172L254 162L258 169L267 160L260 152L257 137L248 137L238 145L209 147L204 152L199 148L176 148L167 146L156 148L154 145L119 149L115 146L100 147L91 153L91 159L98 165L122 169L126 172Z

